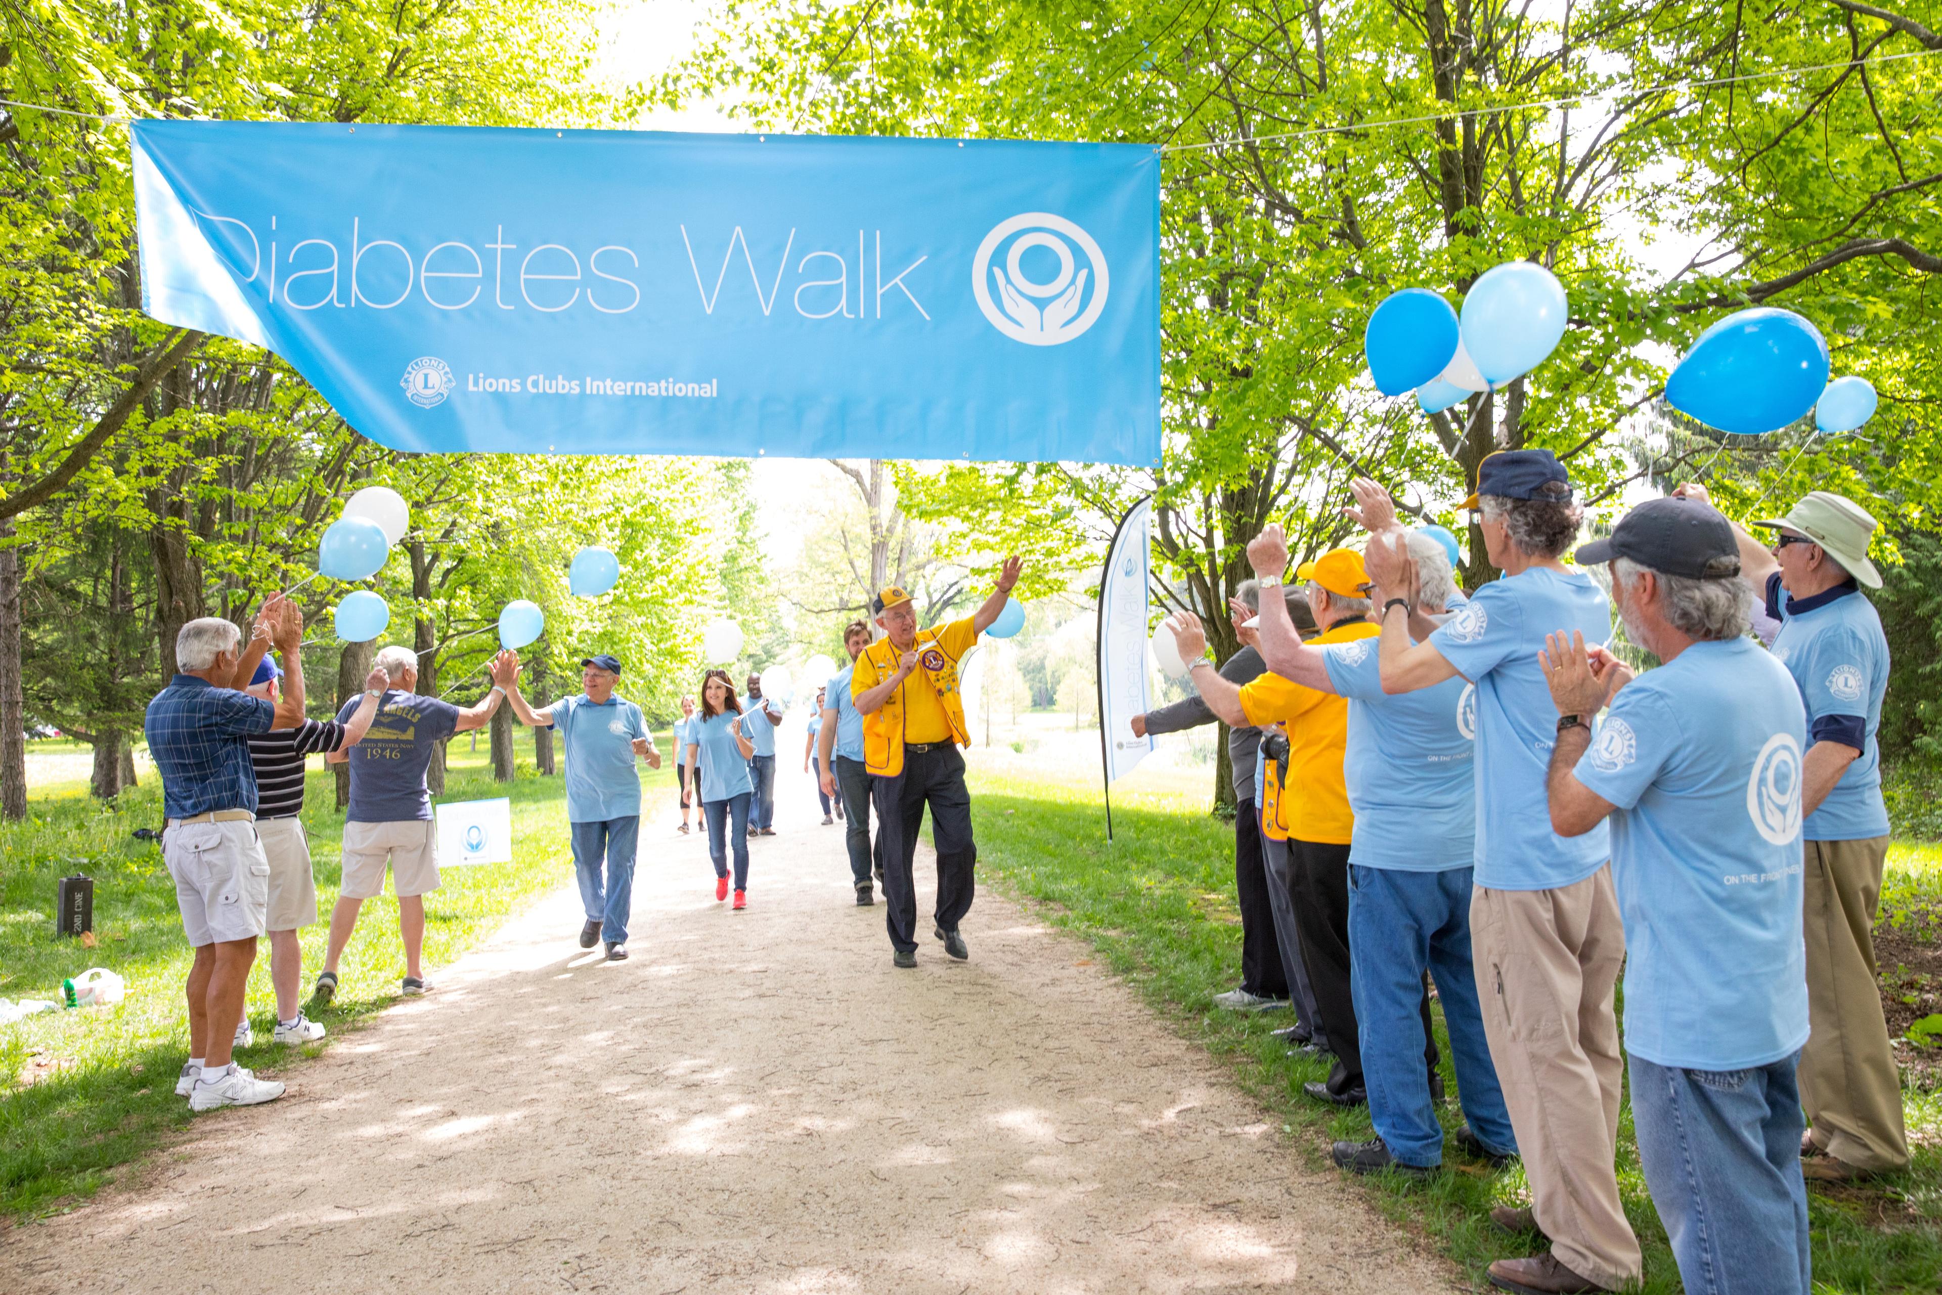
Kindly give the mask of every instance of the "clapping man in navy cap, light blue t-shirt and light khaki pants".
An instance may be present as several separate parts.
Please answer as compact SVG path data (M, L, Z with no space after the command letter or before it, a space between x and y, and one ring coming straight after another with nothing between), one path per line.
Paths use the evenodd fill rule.
M1357 480L1352 489L1365 528L1394 526L1381 485ZM1420 643L1408 596L1390 594L1379 654L1385 693L1458 674L1476 685L1476 988L1530 1180L1530 1217L1552 1243L1534 1258L1497 1260L1490 1274L1513 1291L1618 1289L1641 1270L1616 1169L1625 1058L1612 992L1625 934L1606 827L1577 837L1552 829L1544 771L1556 709L1538 668L1548 633L1610 639L1612 608L1589 575L1559 561L1583 509L1550 450L1488 456L1462 507L1482 513L1484 546L1503 579ZM1377 584L1410 588L1400 546L1371 544L1367 559Z

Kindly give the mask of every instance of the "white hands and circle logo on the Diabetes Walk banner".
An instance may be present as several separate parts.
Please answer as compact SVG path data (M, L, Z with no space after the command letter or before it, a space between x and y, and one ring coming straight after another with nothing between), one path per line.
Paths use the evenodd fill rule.
M992 264L998 249L1000 264ZM1023 256L1045 249L1058 258L1058 274L1033 280ZM1078 264L1074 250L1084 254ZM971 291L990 326L1025 346L1058 346L1080 336L1105 311L1105 252L1089 233L1051 212L1021 212L998 221L971 258ZM1089 289L1089 291L1088 291Z

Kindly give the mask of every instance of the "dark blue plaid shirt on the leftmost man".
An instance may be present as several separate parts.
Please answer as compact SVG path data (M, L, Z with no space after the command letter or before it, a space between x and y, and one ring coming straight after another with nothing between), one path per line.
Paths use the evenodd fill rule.
M249 736L270 732L276 707L262 697L179 674L148 703L148 755L161 773L161 808L173 819L212 810L256 812Z

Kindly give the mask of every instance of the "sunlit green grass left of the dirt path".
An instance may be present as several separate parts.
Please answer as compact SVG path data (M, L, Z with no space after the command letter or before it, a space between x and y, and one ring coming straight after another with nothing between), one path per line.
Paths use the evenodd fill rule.
M478 751L468 738L449 747L452 769L441 800L511 796L515 862L443 870L443 889L425 903L425 967L433 973L571 876L563 779L536 777L532 738L526 730L519 738L520 777L511 786L491 780L484 736ZM672 740L662 749L672 749ZM332 777L318 763L311 761L303 821L322 920L303 932L305 994L322 967L344 833ZM672 786L672 769L670 761L658 773L643 771L643 786L651 794ZM192 953L161 848L130 835L161 827L159 784L146 777L115 806L89 800L85 786L85 779L37 784L27 821L0 825L0 996L58 1002L60 980L85 967L118 973L128 996L113 1008L0 1027L0 1215L29 1217L89 1194L190 1120L175 1095L175 1076L188 1056L183 979ZM95 880L93 949L52 932L54 881L70 872ZM398 905L388 893L365 903L342 973L336 1002L318 1017L332 1037L305 1052L332 1046L394 1000L404 949ZM303 1058L266 1043L274 1004L270 947L262 942L249 1012L264 1043L239 1058L264 1076L289 1078ZM33 1074L29 1083L17 1081L23 1066Z

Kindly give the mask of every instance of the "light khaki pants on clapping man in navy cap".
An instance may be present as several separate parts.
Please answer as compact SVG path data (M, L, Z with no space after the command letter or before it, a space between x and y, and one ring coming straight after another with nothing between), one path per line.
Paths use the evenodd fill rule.
M1625 1058L1612 988L1625 932L1604 866L1550 891L1476 887L1470 942L1484 1035L1530 1179L1530 1210L1571 1272L1639 1279L1639 1239L1618 1204Z

